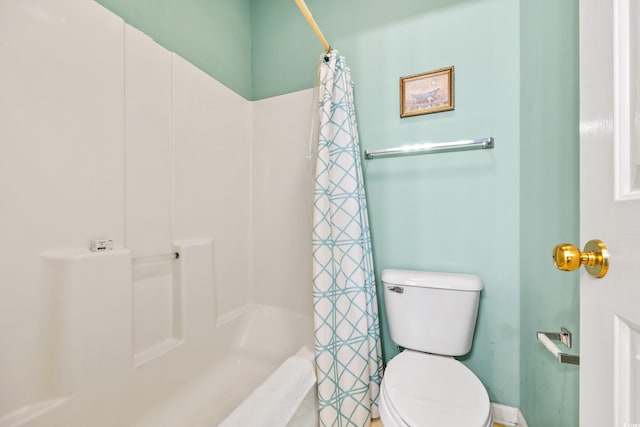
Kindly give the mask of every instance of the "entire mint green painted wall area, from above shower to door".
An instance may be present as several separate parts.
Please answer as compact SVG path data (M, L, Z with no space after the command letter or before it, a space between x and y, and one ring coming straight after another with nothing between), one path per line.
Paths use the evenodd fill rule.
M293 0L99 2L247 99L314 83L322 47ZM495 138L494 150L365 161L375 265L378 279L387 267L482 277L462 360L531 427L578 425L578 370L535 339L579 335L577 275L550 262L554 244L578 240L577 3L307 0L352 68L363 149ZM400 119L399 77L448 65L455 110Z

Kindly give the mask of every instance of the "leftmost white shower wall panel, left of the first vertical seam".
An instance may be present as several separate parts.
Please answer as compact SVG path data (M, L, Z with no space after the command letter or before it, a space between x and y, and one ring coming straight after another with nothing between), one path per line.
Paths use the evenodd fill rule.
M0 4L0 414L53 387L40 253L124 240L123 24L49 3Z

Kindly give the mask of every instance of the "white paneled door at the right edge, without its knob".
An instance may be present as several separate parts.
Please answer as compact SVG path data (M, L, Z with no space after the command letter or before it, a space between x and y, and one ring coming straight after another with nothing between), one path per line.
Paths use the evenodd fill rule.
M640 2L580 1L580 426L640 427Z

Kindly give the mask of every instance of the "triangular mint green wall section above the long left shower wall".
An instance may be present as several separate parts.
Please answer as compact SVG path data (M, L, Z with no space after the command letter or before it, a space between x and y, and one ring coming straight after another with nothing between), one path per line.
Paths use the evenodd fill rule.
M247 99L250 0L96 0Z

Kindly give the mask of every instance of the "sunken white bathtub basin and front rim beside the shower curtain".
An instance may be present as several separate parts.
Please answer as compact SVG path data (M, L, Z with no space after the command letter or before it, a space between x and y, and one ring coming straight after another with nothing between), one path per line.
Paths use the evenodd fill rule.
M270 400L291 402L290 396L294 395L299 397L296 407L280 427L316 427L318 403L311 316L277 307L252 306L223 320L220 328L229 338L228 342L220 343L226 347L224 357L159 402L133 426L278 427L265 423L265 419L283 408L265 405ZM299 365L308 364L313 384L301 385L301 381L291 378L309 375L299 365L290 366L296 360ZM288 381L281 382L281 378ZM283 389L283 385L289 385L289 390ZM264 391L258 396L256 392L261 388ZM282 398L274 396L273 390L282 393Z

